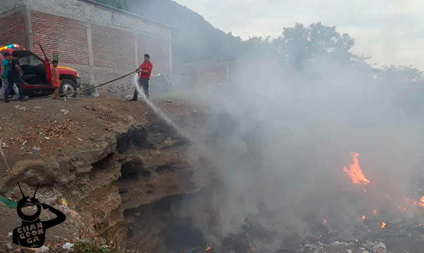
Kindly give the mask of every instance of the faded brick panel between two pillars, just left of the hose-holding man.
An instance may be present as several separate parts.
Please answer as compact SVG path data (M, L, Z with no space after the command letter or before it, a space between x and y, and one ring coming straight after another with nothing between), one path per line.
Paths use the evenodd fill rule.
M132 70L135 66L134 34L103 26L92 26L94 65Z

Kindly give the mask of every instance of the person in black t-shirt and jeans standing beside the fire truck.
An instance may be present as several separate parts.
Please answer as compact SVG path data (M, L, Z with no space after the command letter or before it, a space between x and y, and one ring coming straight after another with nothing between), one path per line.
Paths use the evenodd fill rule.
M12 53L12 60L9 61L8 63L8 81L9 81L9 85L6 89L5 92L5 102L10 102L9 101L9 93L12 91L13 85L16 84L16 86L18 87L18 91L19 91L19 101L24 102L24 101L28 101L26 99L24 99L24 92L22 90L22 79L21 76L24 75L24 71L22 71L21 67L19 66L19 60L18 60L18 52L17 51L13 51Z

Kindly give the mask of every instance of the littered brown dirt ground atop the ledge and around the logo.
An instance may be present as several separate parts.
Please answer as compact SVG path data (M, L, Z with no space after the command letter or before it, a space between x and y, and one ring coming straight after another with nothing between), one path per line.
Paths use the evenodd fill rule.
M186 119L188 115L193 115L195 105L169 99L152 99L152 101L176 122L184 122L181 125L183 129L186 131L193 129L192 125L187 124ZM128 125L143 125L154 120L157 120L157 115L146 103L131 102L125 98L77 97L1 103L0 186L4 188L5 182L16 176L12 168L19 161L37 159L56 161L76 152L100 150L102 142L108 136L116 135L121 130L128 130ZM16 189L17 186L15 192ZM34 189L24 189L25 191ZM39 189L37 196L43 194L43 189ZM63 206L60 199L56 199L56 202L54 204L61 206L59 209L62 212L69 214L67 216L75 217L47 231L54 235L47 236L44 244L50 249L55 248L54 245L57 243L74 241L79 234L71 228L83 226L77 224L79 218L77 213ZM40 218L43 220L43 217L48 218L48 213L43 211ZM0 221L0 252L8 250L8 243L18 250L19 247L12 244L10 234L21 223L16 209L0 205ZM57 247L57 250L59 248Z

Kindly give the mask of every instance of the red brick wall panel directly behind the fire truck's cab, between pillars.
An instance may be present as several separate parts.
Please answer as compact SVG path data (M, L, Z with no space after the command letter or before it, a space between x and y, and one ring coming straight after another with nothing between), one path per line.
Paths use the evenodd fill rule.
M34 52L42 55L58 51L60 62L89 64L86 24L73 19L31 11Z

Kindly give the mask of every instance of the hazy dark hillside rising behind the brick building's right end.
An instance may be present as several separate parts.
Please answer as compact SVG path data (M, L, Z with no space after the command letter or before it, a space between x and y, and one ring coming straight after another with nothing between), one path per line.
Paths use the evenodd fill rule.
M171 0L128 0L128 6L132 13L177 27L173 34L174 64L228 59L229 38L232 46L241 41Z

